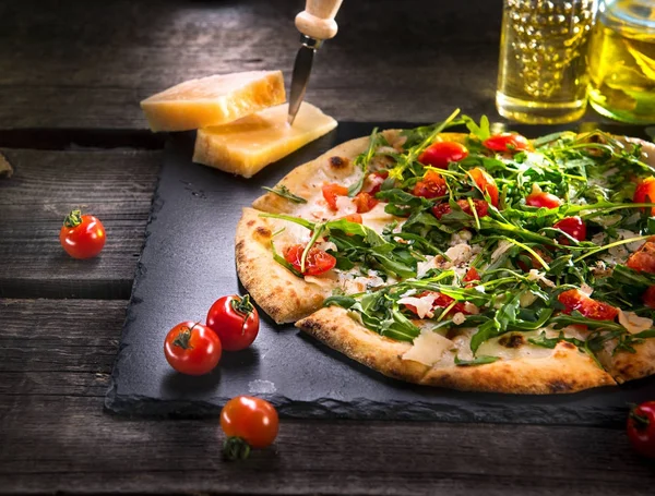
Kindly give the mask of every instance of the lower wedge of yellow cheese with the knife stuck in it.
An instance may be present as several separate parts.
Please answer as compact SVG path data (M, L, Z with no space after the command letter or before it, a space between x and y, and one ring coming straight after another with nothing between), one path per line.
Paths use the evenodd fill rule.
M250 178L336 128L336 121L302 102L294 125L288 105L279 105L230 124L198 131L193 161Z

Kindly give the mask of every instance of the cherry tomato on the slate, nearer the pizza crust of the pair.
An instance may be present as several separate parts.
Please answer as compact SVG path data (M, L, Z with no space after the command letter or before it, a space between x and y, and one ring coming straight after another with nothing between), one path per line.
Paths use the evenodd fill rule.
M259 314L248 294L223 297L207 312L207 327L221 338L224 350L245 350L259 332Z

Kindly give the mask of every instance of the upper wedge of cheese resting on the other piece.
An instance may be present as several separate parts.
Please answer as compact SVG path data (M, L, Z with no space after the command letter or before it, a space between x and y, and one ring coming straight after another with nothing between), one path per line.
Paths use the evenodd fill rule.
M191 80L141 102L151 129L188 131L236 121L284 104L282 71L251 71Z

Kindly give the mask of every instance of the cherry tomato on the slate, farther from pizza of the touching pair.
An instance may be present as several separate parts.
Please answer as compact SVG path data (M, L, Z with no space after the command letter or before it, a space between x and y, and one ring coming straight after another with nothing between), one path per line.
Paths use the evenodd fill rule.
M176 371L187 375L204 375L218 365L221 340L207 326L188 320L168 331L164 354Z

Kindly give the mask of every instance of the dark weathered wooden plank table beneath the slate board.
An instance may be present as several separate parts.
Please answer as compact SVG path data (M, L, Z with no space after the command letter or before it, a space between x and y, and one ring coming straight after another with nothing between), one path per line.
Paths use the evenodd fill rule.
M310 101L341 120L498 118L499 0L344 3ZM653 494L621 430L284 421L274 449L229 464L215 420L103 410L162 159L138 102L215 72L289 74L301 7L0 1L0 492ZM91 262L58 242L79 205L108 231Z

